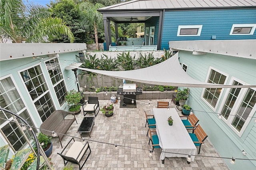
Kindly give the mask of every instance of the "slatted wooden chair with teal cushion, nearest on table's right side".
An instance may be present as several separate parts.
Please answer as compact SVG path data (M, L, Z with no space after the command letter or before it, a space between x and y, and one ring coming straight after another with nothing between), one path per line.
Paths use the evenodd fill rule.
M193 133L188 133L196 146L199 146L198 154L200 154L201 145L208 137L200 125L194 129Z

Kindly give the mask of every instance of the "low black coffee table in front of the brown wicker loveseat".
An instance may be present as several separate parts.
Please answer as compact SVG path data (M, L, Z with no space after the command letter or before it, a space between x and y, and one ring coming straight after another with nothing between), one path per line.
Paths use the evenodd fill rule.
M89 133L89 136L91 137L91 131L94 125L94 119L95 117L84 117L82 123L80 124L77 130L77 132L80 133L81 138L82 138L82 133Z

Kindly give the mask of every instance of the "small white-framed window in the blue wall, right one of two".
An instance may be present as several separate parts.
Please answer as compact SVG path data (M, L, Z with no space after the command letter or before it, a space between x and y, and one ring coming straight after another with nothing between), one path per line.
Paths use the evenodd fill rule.
M256 24L233 24L230 35L253 35Z

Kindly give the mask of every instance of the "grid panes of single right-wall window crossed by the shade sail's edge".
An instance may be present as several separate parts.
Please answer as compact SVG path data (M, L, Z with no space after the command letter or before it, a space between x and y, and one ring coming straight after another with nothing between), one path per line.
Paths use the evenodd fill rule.
M214 68L210 69L207 83L213 83L213 84L224 84L226 83L226 77L227 75L224 75L224 73L221 73L220 71L217 71ZM215 109L218 99L220 97L222 88L205 88L202 98L206 103Z

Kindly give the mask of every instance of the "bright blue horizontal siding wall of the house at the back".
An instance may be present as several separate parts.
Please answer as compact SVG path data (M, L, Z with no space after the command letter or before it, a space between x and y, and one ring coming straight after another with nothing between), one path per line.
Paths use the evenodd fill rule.
M256 24L256 10L191 10L166 11L161 49L168 49L169 41L182 40L244 40L256 39L254 35L230 36L233 24ZM177 36L179 25L203 25L200 36Z

